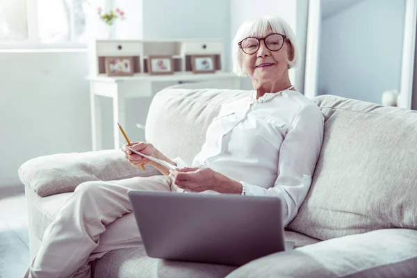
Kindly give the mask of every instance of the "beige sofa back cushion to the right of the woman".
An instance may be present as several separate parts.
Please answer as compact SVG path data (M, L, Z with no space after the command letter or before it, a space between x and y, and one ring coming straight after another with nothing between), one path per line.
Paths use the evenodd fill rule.
M326 240L417 229L417 112L316 97L325 134L311 188L289 229Z

